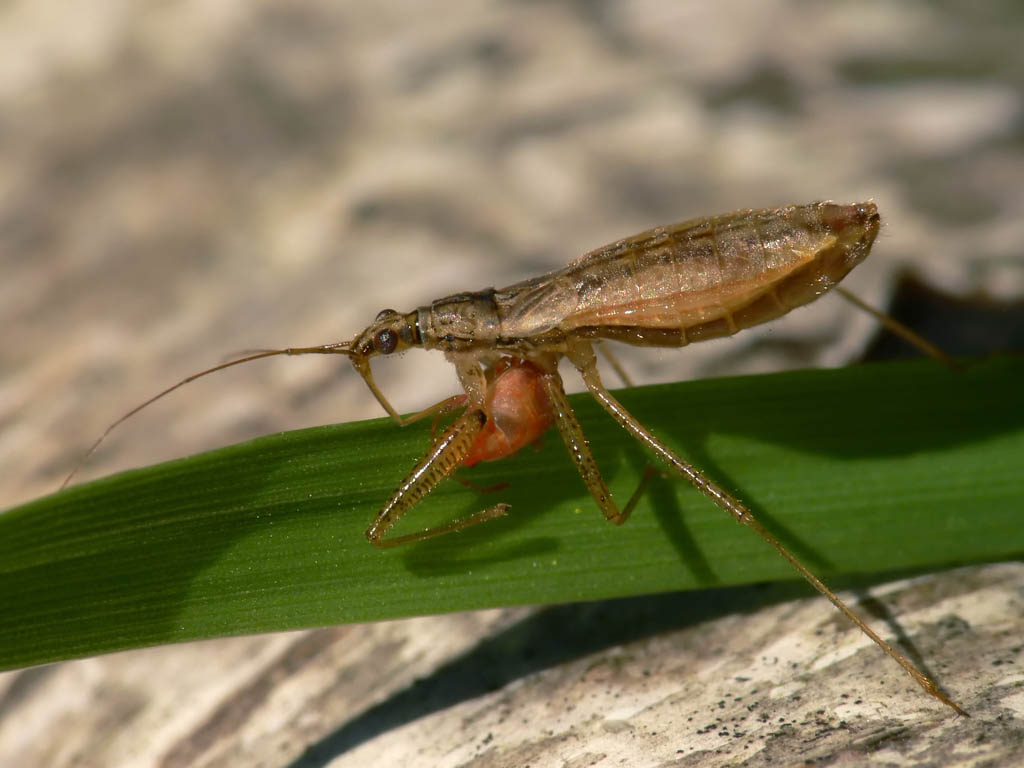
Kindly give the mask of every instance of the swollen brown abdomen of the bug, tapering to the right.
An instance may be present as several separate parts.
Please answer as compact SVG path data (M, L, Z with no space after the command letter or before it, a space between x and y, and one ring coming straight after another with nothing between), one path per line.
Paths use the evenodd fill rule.
M559 327L658 346L728 336L823 294L867 255L878 229L869 202L748 211L652 229L553 275L571 281L578 299Z

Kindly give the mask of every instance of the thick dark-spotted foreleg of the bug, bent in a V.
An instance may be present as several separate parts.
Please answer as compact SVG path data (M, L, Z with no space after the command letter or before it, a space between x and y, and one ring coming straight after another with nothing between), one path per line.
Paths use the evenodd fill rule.
M445 525L427 528L409 536L384 539L384 536L399 517L419 504L423 497L433 490L441 480L449 477L462 464L485 423L486 416L482 411L467 411L444 430L427 454L413 467L413 471L391 494L387 504L377 513L373 524L367 529L367 539L371 544L383 549L422 542L456 530L464 530L471 525L493 520L508 512L509 505L496 504L482 512L454 520Z

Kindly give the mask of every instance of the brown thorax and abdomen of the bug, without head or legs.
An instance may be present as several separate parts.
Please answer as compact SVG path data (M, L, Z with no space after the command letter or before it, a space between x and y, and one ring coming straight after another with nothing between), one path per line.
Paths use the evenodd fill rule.
M867 256L878 230L873 203L657 227L541 278L422 306L420 343L490 355L551 351L573 336L641 346L729 336L816 299Z

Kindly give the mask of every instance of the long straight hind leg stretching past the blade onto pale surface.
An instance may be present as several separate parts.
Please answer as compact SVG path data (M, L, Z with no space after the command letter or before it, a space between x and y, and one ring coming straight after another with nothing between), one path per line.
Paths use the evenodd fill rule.
M900 667L902 667L906 673L912 677L922 688L925 689L926 693L930 693L942 701L942 703L950 707L957 715L967 715L967 713L964 712L964 710L961 709L956 702L946 696L945 693L943 693L939 687L921 670L914 667L906 657L899 653L899 651L883 640L870 627L864 624L860 616L847 607L846 603L840 600L835 592L828 589L820 579L814 575L814 573L812 573L806 565L798 560L797 556L790 552L790 550L787 550L781 542L769 534L745 505L743 505L727 490L712 482L712 480L706 477L703 473L701 473L700 470L692 464L689 464L678 457L671 449L662 442L662 440L651 434L646 427L640 424L640 422L638 422L632 414L623 408L622 403L612 397L611 393L608 392L608 390L605 389L604 385L601 383L601 378L597 373L597 360L594 356L594 349L590 343L585 341L577 342L569 348L568 356L583 375L584 382L587 384L587 388L590 390L590 393L594 395L604 410L611 415L611 418L617 421L627 432L632 434L636 439L657 454L666 463L669 464L669 466L689 480L690 483L697 488L697 490L715 502L715 504L721 507L724 511L732 515L738 522L754 528L758 536L768 542L768 544L770 544L776 552L778 552L794 568L796 568L797 571L805 580L807 580L812 587L814 587L814 589L828 598L833 605L839 608L847 618L859 627L865 635L873 640L879 647L881 647Z

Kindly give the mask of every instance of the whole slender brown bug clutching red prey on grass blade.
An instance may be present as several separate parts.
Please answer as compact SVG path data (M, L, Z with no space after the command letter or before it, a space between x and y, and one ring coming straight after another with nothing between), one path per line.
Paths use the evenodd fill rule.
M623 524L650 472L620 509L565 395L557 368L565 357L594 398L627 432L736 521L753 528L927 693L965 715L765 529L745 505L640 424L605 388L596 365L594 345L601 340L684 346L732 335L807 304L836 287L867 256L879 227L878 208L871 202L822 202L740 211L650 229L592 251L562 269L504 289L456 294L409 312L385 309L348 342L263 350L194 374L114 422L82 461L123 421L202 376L273 355L341 354L399 425L462 411L382 507L367 530L371 544L390 547L418 542L506 514L508 505L497 504L446 525L385 538L402 514L456 468L509 456L538 439L551 424L604 517ZM908 329L897 330L930 353L941 355ZM455 366L464 394L402 417L378 388L370 361L413 347L443 352Z

